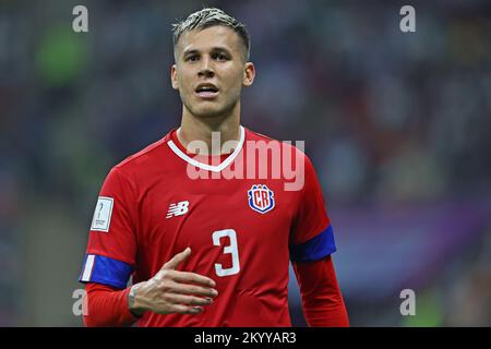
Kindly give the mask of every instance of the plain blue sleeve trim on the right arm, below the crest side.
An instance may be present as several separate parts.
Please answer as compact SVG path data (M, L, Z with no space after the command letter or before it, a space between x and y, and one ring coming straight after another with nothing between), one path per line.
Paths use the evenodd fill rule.
M331 225L327 229L303 243L290 244L290 260L297 263L315 262L325 258L334 252L336 252L336 244Z

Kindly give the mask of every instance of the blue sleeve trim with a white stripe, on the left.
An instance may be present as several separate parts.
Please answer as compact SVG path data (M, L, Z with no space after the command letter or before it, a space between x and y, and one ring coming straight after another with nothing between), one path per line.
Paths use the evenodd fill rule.
M89 263L87 263L89 261ZM133 266L98 254L86 254L80 282L97 282L123 289L128 285Z

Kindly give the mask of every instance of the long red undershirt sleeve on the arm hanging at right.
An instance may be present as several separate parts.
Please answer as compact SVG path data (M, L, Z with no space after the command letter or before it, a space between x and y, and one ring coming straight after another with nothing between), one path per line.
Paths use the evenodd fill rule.
M312 327L348 327L345 302L331 255L311 263L294 263L306 321Z

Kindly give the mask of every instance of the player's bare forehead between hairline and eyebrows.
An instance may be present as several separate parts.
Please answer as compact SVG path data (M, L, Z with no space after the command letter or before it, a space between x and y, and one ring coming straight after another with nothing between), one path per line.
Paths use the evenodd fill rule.
M207 51L215 47L227 48L230 51L241 49L239 34L224 25L214 25L205 29L184 32L179 38L177 48L181 52L189 50Z

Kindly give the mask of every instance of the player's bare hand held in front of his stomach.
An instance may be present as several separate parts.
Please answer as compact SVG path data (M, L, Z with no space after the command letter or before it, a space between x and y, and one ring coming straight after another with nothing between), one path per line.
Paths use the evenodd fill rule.
M191 255L191 249L176 254L147 281L132 286L129 306L133 314L199 314L218 294L215 281L203 275L176 270Z

